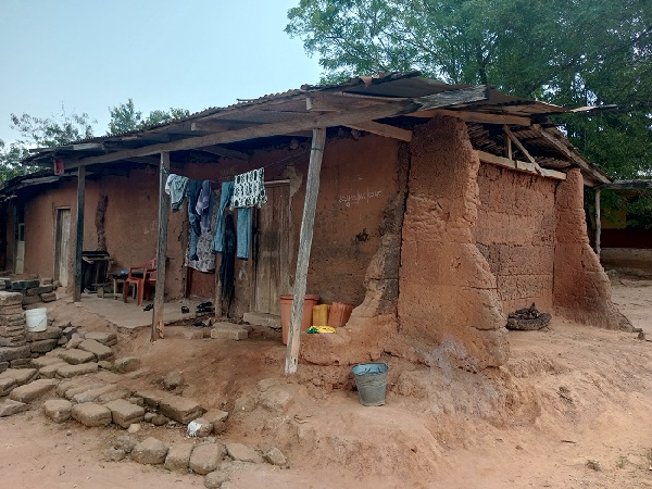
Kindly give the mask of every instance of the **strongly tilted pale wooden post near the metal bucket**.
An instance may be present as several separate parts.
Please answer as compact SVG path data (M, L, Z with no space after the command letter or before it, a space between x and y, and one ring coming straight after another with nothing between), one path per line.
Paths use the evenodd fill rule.
M319 193L319 172L322 156L326 142L326 128L313 129L310 165L308 167L308 181L305 184L305 203L303 218L301 220L301 235L299 238L299 254L297 256L297 274L294 275L294 298L292 300L292 316L288 331L288 349L286 353L286 375L297 373L299 363L299 337L301 334L301 318L303 317L303 301L305 299L305 284L308 278L308 264L310 248L312 246L315 210L317 209L317 195Z

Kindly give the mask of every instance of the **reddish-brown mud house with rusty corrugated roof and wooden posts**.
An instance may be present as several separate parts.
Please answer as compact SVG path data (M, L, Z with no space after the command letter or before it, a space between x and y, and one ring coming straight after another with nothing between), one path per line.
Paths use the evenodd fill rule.
M2 188L7 263L53 276L78 299L82 251L105 250L120 267L158 256L156 325L163 290L220 293L215 273L185 266L188 215L168 212L167 174L217 190L264 168L267 202L253 211L249 260L235 261L228 313L276 315L278 297L293 293L288 372L299 351L315 364L391 352L498 366L506 314L532 302L598 326L626 323L584 211L584 187L610 180L548 123L563 112L409 73L39 149L25 163L46 170ZM299 346L306 291L355 309L337 334L301 335Z

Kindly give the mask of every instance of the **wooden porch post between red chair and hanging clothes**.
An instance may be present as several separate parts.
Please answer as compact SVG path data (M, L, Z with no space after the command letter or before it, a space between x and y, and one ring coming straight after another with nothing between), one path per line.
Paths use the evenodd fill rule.
M165 256L167 255L167 209L170 199L165 193L165 181L170 174L170 153L161 153L159 166L159 241L156 243L156 288L152 314L151 341L163 338L163 309L165 299Z

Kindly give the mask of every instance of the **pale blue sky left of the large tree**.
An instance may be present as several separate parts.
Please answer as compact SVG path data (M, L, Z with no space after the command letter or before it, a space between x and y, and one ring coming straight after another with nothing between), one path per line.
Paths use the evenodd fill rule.
M197 112L316 84L301 39L284 33L299 0L0 0L0 139L10 114L88 113L134 99L143 115Z

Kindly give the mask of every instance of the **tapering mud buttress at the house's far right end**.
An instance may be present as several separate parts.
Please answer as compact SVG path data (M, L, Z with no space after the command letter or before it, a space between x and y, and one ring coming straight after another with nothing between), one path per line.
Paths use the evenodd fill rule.
M584 185L579 168L568 171L555 197L555 312L580 323L631 330L611 302L611 284L587 236Z

